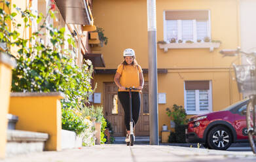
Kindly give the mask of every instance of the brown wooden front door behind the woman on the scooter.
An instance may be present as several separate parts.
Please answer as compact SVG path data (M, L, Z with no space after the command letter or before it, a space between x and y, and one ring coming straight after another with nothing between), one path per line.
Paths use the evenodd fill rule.
M105 83L104 112L105 118L113 127L114 137L124 137L126 127L124 125L124 110L117 96L118 87L114 82ZM145 83L141 94L141 111L135 127L136 136L149 136L149 84Z

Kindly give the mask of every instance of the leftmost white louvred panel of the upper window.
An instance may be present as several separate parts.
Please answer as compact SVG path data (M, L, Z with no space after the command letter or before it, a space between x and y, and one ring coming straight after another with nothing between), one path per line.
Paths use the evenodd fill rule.
M167 30L167 40L171 40L172 38L175 38L177 40L177 33L178 33L178 27L177 27L177 20L168 20L166 21L166 30Z

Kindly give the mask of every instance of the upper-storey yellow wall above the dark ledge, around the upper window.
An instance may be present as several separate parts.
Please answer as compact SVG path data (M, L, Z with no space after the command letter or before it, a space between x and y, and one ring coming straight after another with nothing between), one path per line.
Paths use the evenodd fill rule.
M236 48L239 45L236 0L157 0L156 7L156 40L164 39L164 10L210 10L211 38L221 40L221 48ZM135 50L141 67L148 67L147 1L96 0L93 15L95 24L103 27L109 39L107 46L102 48L107 69L117 68L117 64L122 61L123 50L129 47ZM223 58L218 53L221 48L211 53L209 49L177 49L164 53L158 48L158 68L229 67L233 58Z

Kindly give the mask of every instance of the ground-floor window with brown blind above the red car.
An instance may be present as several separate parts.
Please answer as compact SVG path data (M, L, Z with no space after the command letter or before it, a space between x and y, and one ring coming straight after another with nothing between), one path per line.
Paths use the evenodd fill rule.
M184 86L187 114L211 112L211 81L185 81Z

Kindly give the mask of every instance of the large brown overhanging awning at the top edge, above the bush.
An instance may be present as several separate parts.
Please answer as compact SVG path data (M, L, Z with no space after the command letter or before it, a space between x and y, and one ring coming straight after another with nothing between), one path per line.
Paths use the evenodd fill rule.
M67 24L93 25L90 11L84 0L55 0Z

